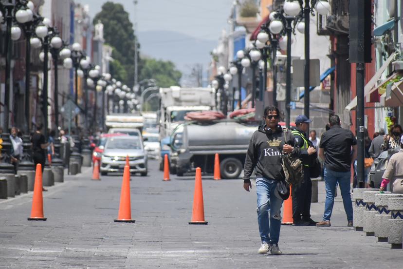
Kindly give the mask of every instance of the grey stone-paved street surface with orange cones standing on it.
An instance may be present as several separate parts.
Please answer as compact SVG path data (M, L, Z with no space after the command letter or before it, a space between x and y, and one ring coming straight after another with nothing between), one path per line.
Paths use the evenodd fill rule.
M188 225L193 177L163 182L157 163L132 176L134 224L114 223L122 177L66 176L44 193L46 222L29 222L32 194L0 202L0 268L401 268L403 251L347 227L341 197L332 227L281 228L281 256L257 254L256 192L203 177L208 225ZM155 167L155 168L154 168ZM324 184L312 218L320 220ZM340 192L339 192L340 193Z

